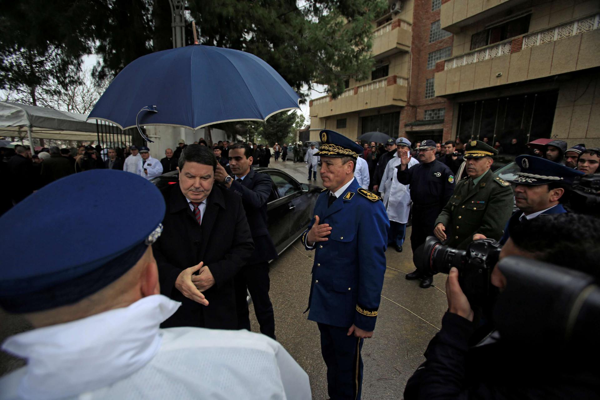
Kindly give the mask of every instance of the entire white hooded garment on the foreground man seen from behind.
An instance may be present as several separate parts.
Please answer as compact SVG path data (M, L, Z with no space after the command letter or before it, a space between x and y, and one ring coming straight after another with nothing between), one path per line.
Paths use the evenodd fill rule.
M0 378L0 399L310 399L308 375L276 341L246 330L159 329L181 305L124 308L11 336L28 365Z

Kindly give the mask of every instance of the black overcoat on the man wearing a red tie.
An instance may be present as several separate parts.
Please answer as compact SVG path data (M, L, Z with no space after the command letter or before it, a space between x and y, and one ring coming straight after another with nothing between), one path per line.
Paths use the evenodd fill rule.
M182 305L161 326L238 329L233 277L254 249L240 197L221 185L214 185L199 225L179 185L169 185L163 196L167 206L164 230L152 249L158 264L161 294ZM175 287L179 273L200 261L204 261L215 278L215 284L203 292L208 306L188 299Z

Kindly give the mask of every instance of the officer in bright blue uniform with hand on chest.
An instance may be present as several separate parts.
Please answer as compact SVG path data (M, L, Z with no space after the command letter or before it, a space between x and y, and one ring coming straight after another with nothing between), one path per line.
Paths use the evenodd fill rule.
M305 248L315 250L308 319L321 333L331 399L360 399L361 348L373 336L385 273L389 221L380 197L354 178L361 146L329 130L320 175L325 190L317 199Z

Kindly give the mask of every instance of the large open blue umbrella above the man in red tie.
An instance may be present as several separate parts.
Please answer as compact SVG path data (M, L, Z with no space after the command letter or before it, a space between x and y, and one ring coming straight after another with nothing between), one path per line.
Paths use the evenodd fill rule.
M195 44L131 62L88 119L121 129L169 125L197 130L218 122L266 121L280 111L299 109L298 101L280 74L257 56Z

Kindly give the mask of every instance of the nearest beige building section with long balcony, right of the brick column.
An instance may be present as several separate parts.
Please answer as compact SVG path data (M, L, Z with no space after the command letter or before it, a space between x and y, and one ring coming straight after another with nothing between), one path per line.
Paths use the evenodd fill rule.
M436 96L452 101L452 137L600 146L600 2L442 0L452 57Z

